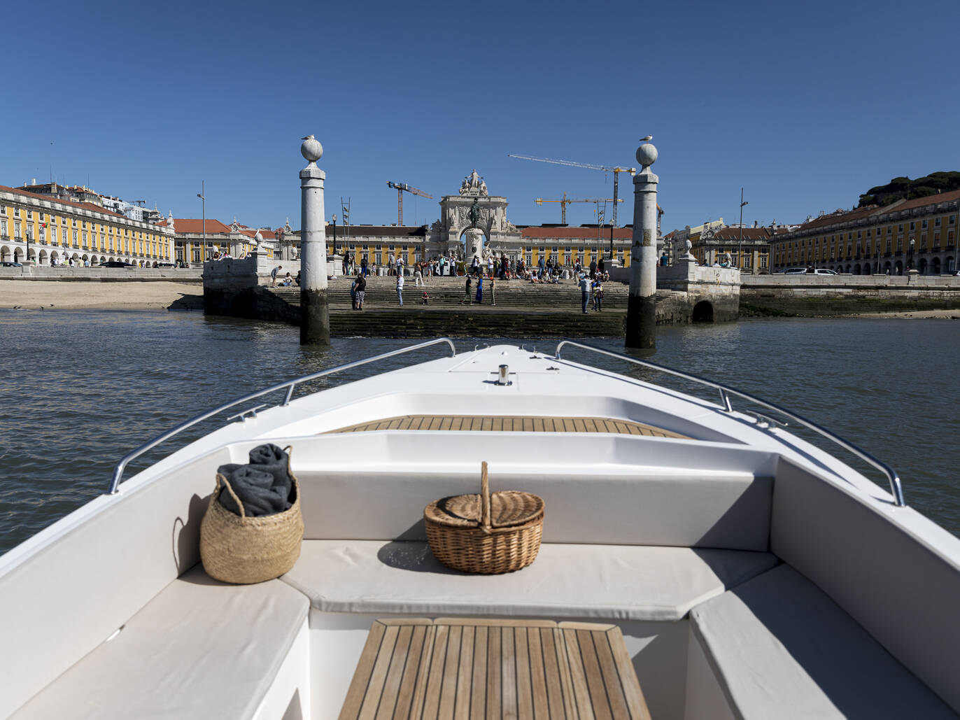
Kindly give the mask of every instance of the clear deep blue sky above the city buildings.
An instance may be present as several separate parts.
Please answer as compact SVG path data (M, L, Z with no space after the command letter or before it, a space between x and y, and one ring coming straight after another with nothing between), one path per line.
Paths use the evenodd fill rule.
M0 184L36 178L166 214L300 225L300 137L327 213L429 223L472 168L516 224L636 165L652 132L663 229L803 221L899 175L960 169L960 3L8 4ZM621 178L619 221L633 216ZM595 222L571 205L571 224Z

